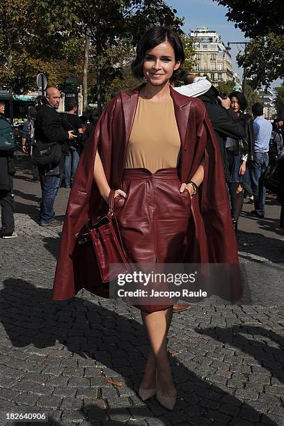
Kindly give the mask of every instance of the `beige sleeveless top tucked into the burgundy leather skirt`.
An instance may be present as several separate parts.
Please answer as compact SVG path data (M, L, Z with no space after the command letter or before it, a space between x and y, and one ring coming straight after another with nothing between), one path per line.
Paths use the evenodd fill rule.
M127 147L125 168L148 168L151 173L178 164L180 134L173 100L153 102L139 97Z

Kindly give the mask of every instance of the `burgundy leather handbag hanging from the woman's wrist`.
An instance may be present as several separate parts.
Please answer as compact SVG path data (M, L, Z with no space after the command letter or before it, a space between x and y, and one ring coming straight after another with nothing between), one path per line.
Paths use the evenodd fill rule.
M119 274L130 271L129 260L120 237L118 222L114 212L114 190L109 194L109 212L90 221L77 235L79 245L93 243L93 249L100 268L103 283L117 278ZM114 265L113 265L114 264ZM111 269L110 269L110 265Z

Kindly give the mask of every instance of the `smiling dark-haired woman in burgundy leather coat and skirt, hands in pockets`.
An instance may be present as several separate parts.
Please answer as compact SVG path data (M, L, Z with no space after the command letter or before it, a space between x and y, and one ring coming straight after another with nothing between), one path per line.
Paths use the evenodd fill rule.
M200 100L170 80L184 51L180 38L155 27L141 38L132 65L145 84L121 92L98 120L79 162L63 226L54 299L81 287L108 297L93 258L75 235L116 190L123 245L132 262L223 262L238 265L219 148ZM197 190L196 190L197 189ZM225 237L226 230L226 237ZM237 299L239 281L230 289ZM139 395L173 409L176 390L167 355L172 305L140 306L150 354Z

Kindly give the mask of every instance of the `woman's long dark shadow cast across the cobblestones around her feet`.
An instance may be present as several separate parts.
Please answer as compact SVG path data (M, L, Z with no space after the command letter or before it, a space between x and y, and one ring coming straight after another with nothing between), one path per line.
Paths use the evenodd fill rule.
M42 349L47 356L49 354L45 348L50 347L53 349L53 356L59 357L61 353L62 360L68 358L63 351L66 348L71 352L70 356L77 354L85 359L90 358L96 361L99 367L101 366L105 377L88 376L90 377L88 386L91 390L93 389L94 395L97 390L102 389L102 397L93 400L93 403L92 400L88 400L83 411L79 410L84 415L87 413L92 425L97 425L98 421L102 423L107 421L107 425L111 425L109 419L115 422L113 425L125 425L127 423L123 419L124 416L129 419L129 412L132 417L136 415L140 418L142 416L159 418L165 425L168 422L209 425L214 419L216 424L220 422L229 424L232 421L235 426L244 426L245 419L248 418L253 419L253 422L257 424L261 420L262 423L276 425L273 420L256 411L249 403L230 395L225 385L212 384L200 379L176 356L170 356L173 377L180 395L176 409L168 412L159 405L155 397L143 404L134 395L133 390L137 391L139 388L145 357L148 354L148 341L143 326L134 317L132 308L129 310L126 305L105 299L102 301L103 306L97 306L79 297L69 301L52 301L51 298L51 290L35 287L22 279L9 278L3 282L3 289L0 290L1 322L13 348L32 345L32 350L34 347ZM139 317L138 311L136 316ZM203 329L203 333L205 332L206 329ZM212 337L216 338L215 335ZM64 345L64 348L61 345L58 347L57 342ZM40 350L36 353L40 354ZM19 368L19 360L10 358L7 362L8 368ZM21 361L20 366L22 370L29 371L26 361ZM40 374L48 374L48 367L53 368L54 365L49 363L47 372L42 370ZM44 358L42 368L45 369ZM100 369L93 368L92 374L95 374L95 370L100 373ZM25 373L21 371L19 374L24 376ZM203 374L203 377L207 375L206 372L200 374ZM59 371L57 376L60 375ZM214 381L215 376L211 375ZM106 377L113 380L122 380L123 377L126 387L117 388L107 384ZM21 385L20 383L19 388ZM78 388L81 389L80 385ZM112 407L102 409L99 402L107 399L108 392L116 393L115 402ZM123 392L126 393L123 394ZM65 424L64 418L62 420ZM134 424L137 425L137 423Z

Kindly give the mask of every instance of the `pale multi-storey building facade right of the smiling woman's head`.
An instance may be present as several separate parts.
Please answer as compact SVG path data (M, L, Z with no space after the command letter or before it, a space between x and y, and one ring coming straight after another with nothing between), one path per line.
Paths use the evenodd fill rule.
M214 86L219 81L234 80L235 72L232 70L231 55L221 36L216 31L207 29L206 26L199 26L191 31L190 36L195 40L196 68L194 72L200 75L206 74Z

